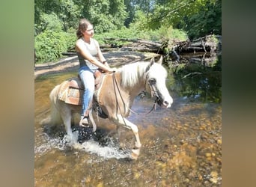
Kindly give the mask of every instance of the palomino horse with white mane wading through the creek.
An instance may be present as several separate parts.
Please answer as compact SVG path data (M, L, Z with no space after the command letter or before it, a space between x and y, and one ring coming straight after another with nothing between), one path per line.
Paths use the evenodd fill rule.
M162 57L159 61L154 62L136 62L126 64L115 73L106 73L103 75L102 84L94 94L94 100L97 100L101 110L106 114L109 120L112 120L117 126L124 126L131 129L135 135L135 149L132 150L132 159L137 159L141 148L141 141L138 137L138 127L126 119L131 111L132 102L135 96L138 96L141 91L151 93L151 96L156 96L157 103L169 108L173 102L168 89L165 85L167 72L162 67ZM81 82L77 78L77 84ZM64 102L60 97L61 86L67 84L67 81L61 85L55 86L50 93L52 102L52 123L64 123L67 135L72 137L71 117L72 112L80 113L81 105L73 105ZM83 90L80 90L83 91ZM62 91L64 92L64 91ZM80 93L82 95L82 93ZM95 130L95 129L94 129ZM119 133L118 133L119 135Z

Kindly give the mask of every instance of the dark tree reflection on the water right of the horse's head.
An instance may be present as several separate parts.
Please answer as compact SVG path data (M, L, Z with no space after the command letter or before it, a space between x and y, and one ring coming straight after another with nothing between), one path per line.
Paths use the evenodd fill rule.
M173 90L191 101L222 102L222 56L211 63L178 64L170 68Z

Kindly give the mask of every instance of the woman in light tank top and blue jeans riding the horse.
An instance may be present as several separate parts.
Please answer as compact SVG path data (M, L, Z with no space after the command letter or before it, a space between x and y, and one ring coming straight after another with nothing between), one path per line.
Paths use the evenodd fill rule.
M103 57L97 40L92 38L94 37L94 26L88 19L80 19L76 36L78 40L75 49L80 64L79 76L85 87L79 126L84 126L83 124L88 124L88 108L94 95L94 72L99 68L105 72L113 72L114 69L109 67Z

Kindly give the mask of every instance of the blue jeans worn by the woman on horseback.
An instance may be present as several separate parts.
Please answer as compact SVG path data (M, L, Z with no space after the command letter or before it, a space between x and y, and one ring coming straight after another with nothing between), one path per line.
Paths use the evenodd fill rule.
M88 111L89 105L94 96L94 72L95 70L90 70L88 67L79 68L79 76L85 87L82 100L81 117L85 116L85 112Z

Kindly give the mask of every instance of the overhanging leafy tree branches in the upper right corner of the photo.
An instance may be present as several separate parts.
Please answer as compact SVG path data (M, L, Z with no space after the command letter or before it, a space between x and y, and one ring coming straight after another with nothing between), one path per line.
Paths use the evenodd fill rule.
M172 25L188 31L189 37L221 33L220 0L158 0L147 16L144 29Z

